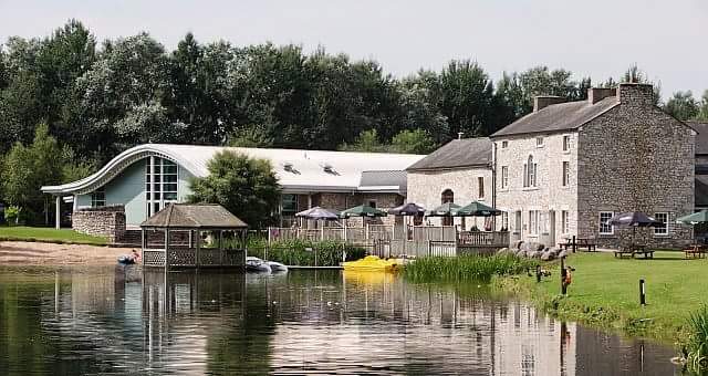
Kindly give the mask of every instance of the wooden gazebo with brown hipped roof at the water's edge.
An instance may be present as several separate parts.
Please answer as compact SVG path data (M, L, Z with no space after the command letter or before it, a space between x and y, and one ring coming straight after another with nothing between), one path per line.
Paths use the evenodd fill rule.
M220 205L170 203L140 228L144 267L169 270L246 264L248 224Z

